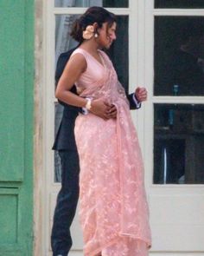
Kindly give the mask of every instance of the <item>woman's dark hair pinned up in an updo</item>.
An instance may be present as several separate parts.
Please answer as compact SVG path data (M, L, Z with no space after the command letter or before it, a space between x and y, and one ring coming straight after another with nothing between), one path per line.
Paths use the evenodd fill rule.
M98 28L101 28L103 23L108 23L108 28L110 28L115 22L116 16L112 12L105 10L103 7L92 6L73 23L70 36L77 42L82 43L84 41L83 31L86 30L88 25L98 23Z

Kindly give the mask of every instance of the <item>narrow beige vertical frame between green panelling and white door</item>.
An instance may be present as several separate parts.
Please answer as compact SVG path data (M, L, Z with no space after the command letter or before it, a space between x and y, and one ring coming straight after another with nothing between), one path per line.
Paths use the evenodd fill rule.
M35 0L34 255L46 255L46 1Z

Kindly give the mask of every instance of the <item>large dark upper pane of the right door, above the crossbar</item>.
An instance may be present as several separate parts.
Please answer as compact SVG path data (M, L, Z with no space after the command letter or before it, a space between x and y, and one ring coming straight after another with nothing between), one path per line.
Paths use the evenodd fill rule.
M203 17L157 16L154 49L155 95L204 95Z

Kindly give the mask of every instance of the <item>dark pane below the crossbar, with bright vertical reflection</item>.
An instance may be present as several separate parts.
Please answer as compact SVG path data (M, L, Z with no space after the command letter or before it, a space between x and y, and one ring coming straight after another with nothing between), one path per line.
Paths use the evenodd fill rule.
M155 104L154 183L204 184L204 105Z

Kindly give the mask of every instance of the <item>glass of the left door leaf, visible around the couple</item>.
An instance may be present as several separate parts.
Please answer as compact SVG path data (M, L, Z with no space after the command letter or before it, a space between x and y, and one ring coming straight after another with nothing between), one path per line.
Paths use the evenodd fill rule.
M57 15L56 30L55 30L55 60L57 62L58 57L62 52L66 52L77 45L77 43L69 36L70 30L77 15ZM124 85L124 89L128 91L129 83L129 41L128 41L128 16L117 16L117 40L112 44L111 49L107 51L107 54L112 59L113 65L118 74L118 80ZM123 49L123 50L121 50ZM55 62L55 65L56 65ZM55 133L59 127L62 115L61 105L55 105ZM59 155L54 154L54 181L61 181L61 164Z

